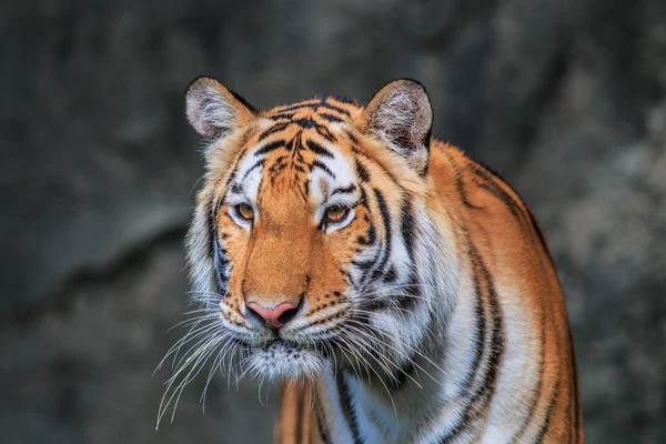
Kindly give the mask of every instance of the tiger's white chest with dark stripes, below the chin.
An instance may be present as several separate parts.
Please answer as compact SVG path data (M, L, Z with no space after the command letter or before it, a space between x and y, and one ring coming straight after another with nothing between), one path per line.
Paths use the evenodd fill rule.
M436 431L453 426L463 402L455 401L453 381L446 383L434 365L423 361L416 363L421 369L400 381L359 375L353 369L322 377L316 410L323 442L427 443ZM451 411L451 416L443 418L443 411ZM418 435L428 430L433 433Z

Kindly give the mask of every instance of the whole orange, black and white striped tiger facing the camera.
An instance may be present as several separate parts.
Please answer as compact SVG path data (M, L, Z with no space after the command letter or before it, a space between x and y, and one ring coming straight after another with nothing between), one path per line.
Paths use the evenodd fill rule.
M185 241L214 320L201 349L280 385L276 443L584 442L539 224L432 135L420 82L259 110L201 77L185 102L205 164Z

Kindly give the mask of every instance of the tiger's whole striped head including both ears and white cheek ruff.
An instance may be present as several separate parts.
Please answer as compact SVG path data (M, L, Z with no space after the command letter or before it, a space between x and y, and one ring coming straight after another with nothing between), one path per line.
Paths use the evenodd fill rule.
M424 88L260 111L204 77L186 115L206 141L188 259L218 359L268 379L413 360L455 275L436 270L455 254L430 211Z

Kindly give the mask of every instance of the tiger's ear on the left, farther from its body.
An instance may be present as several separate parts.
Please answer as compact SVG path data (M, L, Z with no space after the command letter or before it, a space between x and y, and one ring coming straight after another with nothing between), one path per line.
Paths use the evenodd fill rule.
M251 123L259 111L210 77L196 78L185 94L188 121L208 141L219 141Z

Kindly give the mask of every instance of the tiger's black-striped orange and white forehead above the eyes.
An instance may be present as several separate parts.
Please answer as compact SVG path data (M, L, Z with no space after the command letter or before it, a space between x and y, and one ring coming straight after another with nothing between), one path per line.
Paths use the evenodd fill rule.
M258 135L248 140L232 172L229 192L256 202L266 180L274 184L278 176L283 176L301 190L304 200L321 204L332 190L342 193L354 186L353 141L347 134L355 110L341 108L349 107L345 102L333 104L329 100L271 111L260 123ZM345 200L343 195L337 199Z

